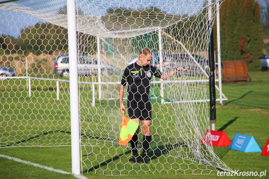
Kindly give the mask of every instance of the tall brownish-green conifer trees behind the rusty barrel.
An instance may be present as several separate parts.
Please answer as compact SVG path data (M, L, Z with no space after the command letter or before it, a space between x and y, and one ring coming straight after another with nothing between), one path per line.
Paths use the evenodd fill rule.
M225 0L220 8L220 32L222 60L245 60L250 70L260 66L263 32L258 2Z

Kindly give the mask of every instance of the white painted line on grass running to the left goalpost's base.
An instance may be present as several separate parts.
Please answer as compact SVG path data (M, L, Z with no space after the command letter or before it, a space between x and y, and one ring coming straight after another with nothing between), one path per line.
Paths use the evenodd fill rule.
M72 174L72 173L69 173L69 172L65 172L63 170L58 170L58 169L54 169L54 168L51 168L51 167L46 167L44 165L39 165L37 163L31 163L29 161L21 160L19 158L9 157L7 155L0 154L0 157L7 158L9 160L14 160L14 161L19 162L19 163L25 163L25 164L28 164L28 165L33 165L35 167L44 168L44 169L52 171L52 172L58 172L58 173L63 173L63 174ZM74 175L74 177L76 177L78 179L88 179L87 177L84 177L83 175Z

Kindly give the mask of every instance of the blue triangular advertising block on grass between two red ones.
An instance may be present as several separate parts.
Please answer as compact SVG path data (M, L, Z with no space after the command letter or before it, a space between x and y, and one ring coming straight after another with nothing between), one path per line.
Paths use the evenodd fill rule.
M262 152L253 136L238 133L233 137L229 149L241 152Z

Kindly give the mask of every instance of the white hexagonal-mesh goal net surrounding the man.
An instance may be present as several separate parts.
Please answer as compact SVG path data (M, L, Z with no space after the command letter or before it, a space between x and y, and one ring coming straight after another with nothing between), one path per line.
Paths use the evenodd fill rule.
M0 8L6 9L1 17L11 16L7 25L11 31L13 21L27 24L17 36L1 34L2 64L15 68L17 74L1 77L0 122L4 128L0 147L70 145L66 2L42 0L33 5L20 0ZM215 3L204 0L76 1L83 172L231 171L214 154L212 145L201 144L210 129L207 59L213 24L209 18L214 21L216 12ZM32 22L34 17L39 20ZM152 78L149 164L132 163L130 144L118 144L122 122L119 85L124 69L137 61L144 48L151 50L151 65L162 73L188 67L166 80ZM19 63L25 65L19 67ZM125 106L127 95L126 87ZM141 130L138 136L138 153L142 153Z

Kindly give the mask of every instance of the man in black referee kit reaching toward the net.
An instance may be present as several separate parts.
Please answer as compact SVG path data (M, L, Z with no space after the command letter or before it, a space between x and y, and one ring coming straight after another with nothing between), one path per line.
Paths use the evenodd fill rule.
M148 163L147 153L150 148L151 143L151 103L149 97L150 81L151 76L154 75L157 78L167 79L174 75L179 70L187 70L187 68L177 67L174 70L162 74L157 68L150 65L152 56L149 49L142 49L138 55L138 60L127 66L122 75L122 81L119 88L119 107L120 110L126 111L122 104L122 98L124 94L124 87L128 83L128 98L127 107L128 115L131 120L138 122L141 120L142 131L143 131L143 141L142 141L142 163ZM139 163L138 153L137 153L137 142L139 133L138 129L133 135L130 143L132 145L132 161L134 163Z

